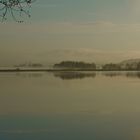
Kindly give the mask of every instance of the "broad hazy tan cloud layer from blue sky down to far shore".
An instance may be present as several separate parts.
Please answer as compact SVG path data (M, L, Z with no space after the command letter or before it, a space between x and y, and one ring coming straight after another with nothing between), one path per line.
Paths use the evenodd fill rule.
M140 56L140 24L110 21L2 23L0 30L1 64L62 60L101 63Z

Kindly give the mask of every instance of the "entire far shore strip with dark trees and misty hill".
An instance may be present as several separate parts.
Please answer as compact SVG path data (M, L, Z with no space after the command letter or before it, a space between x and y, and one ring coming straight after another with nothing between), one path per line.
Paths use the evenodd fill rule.
M46 68L41 63L14 65L12 68L0 68L0 72L55 72L55 71L140 71L140 59L125 60L120 63L96 64L83 61L62 61Z

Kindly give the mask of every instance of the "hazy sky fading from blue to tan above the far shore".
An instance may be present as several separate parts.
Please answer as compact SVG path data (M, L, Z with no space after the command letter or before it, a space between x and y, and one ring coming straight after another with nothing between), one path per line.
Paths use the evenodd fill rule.
M0 66L140 58L139 0L36 0L30 14L0 23Z

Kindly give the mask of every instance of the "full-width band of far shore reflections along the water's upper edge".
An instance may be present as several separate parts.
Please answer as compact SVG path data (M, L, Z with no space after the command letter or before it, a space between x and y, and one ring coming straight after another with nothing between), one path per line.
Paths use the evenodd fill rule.
M16 72L16 73L1 73L0 77L22 77L22 78L41 78L48 74L48 72ZM85 79L95 78L96 76L105 76L110 78L115 77L126 77L126 78L137 78L140 79L139 71L101 71L101 72L79 72L79 71L57 71L49 72L54 77L62 80L74 80L74 79Z

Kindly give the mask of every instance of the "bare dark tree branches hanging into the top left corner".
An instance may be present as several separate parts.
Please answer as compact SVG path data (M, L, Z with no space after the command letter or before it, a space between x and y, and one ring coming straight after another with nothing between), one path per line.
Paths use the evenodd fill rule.
M2 21L6 20L7 14L10 13L16 22L23 22L18 20L18 14L20 17L22 14L30 17L29 8L34 1L35 0L0 0L0 16Z

